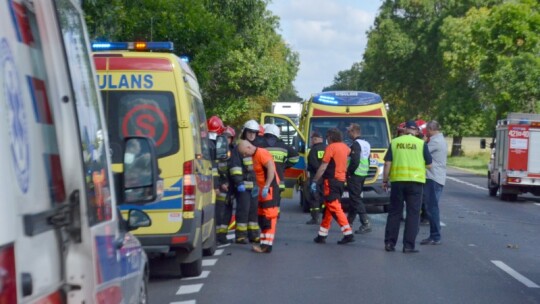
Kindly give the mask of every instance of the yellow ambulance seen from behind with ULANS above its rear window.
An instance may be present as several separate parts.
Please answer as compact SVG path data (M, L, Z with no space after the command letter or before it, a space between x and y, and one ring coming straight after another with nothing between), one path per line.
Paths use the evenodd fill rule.
M96 42L92 48L113 162L121 163L115 151L123 138L150 137L164 181L161 200L121 209L138 208L152 218L152 226L134 232L150 258L198 276L216 238L211 143L197 78L170 42Z

